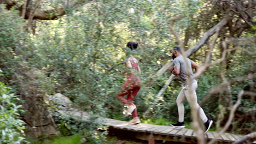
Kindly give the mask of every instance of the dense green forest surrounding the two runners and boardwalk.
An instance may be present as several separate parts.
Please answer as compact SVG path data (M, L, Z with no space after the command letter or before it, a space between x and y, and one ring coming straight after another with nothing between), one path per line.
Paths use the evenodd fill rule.
M131 119L117 99L129 41L138 44L132 55L141 89L133 103L141 123L178 120L182 82L168 70L178 46L199 65L197 102L213 121L210 131L256 140L255 6L254 0L0 0L0 143L118 141L95 119ZM88 112L89 121L57 113L50 99L56 94ZM214 143L200 135L194 106L185 101L184 109L196 143Z

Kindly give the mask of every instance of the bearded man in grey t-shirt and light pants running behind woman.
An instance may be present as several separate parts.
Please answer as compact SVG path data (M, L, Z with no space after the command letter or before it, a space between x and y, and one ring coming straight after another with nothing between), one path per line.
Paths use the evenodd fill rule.
M188 83L189 77L193 76L192 68L194 68L195 71L197 71L197 69L199 68L199 65L191 61L189 58L187 58L187 62L186 62L185 58L181 55L181 50L179 49L179 47L173 47L172 58L174 60L173 60L173 65L170 68L170 71L172 74L179 76L183 84L182 91L179 93L176 99L176 103L178 106L179 120L177 123L172 124L172 126L177 128L185 128L183 102L184 100L187 99L190 106L194 104L197 107L197 110L199 110L199 116L202 119L203 123L205 124L205 133L206 133L210 129L213 121L206 117L205 112L203 112L202 108L197 103L197 96L196 96L197 80L192 79L190 81L191 85L189 85ZM189 87L191 88L191 93L189 93Z

